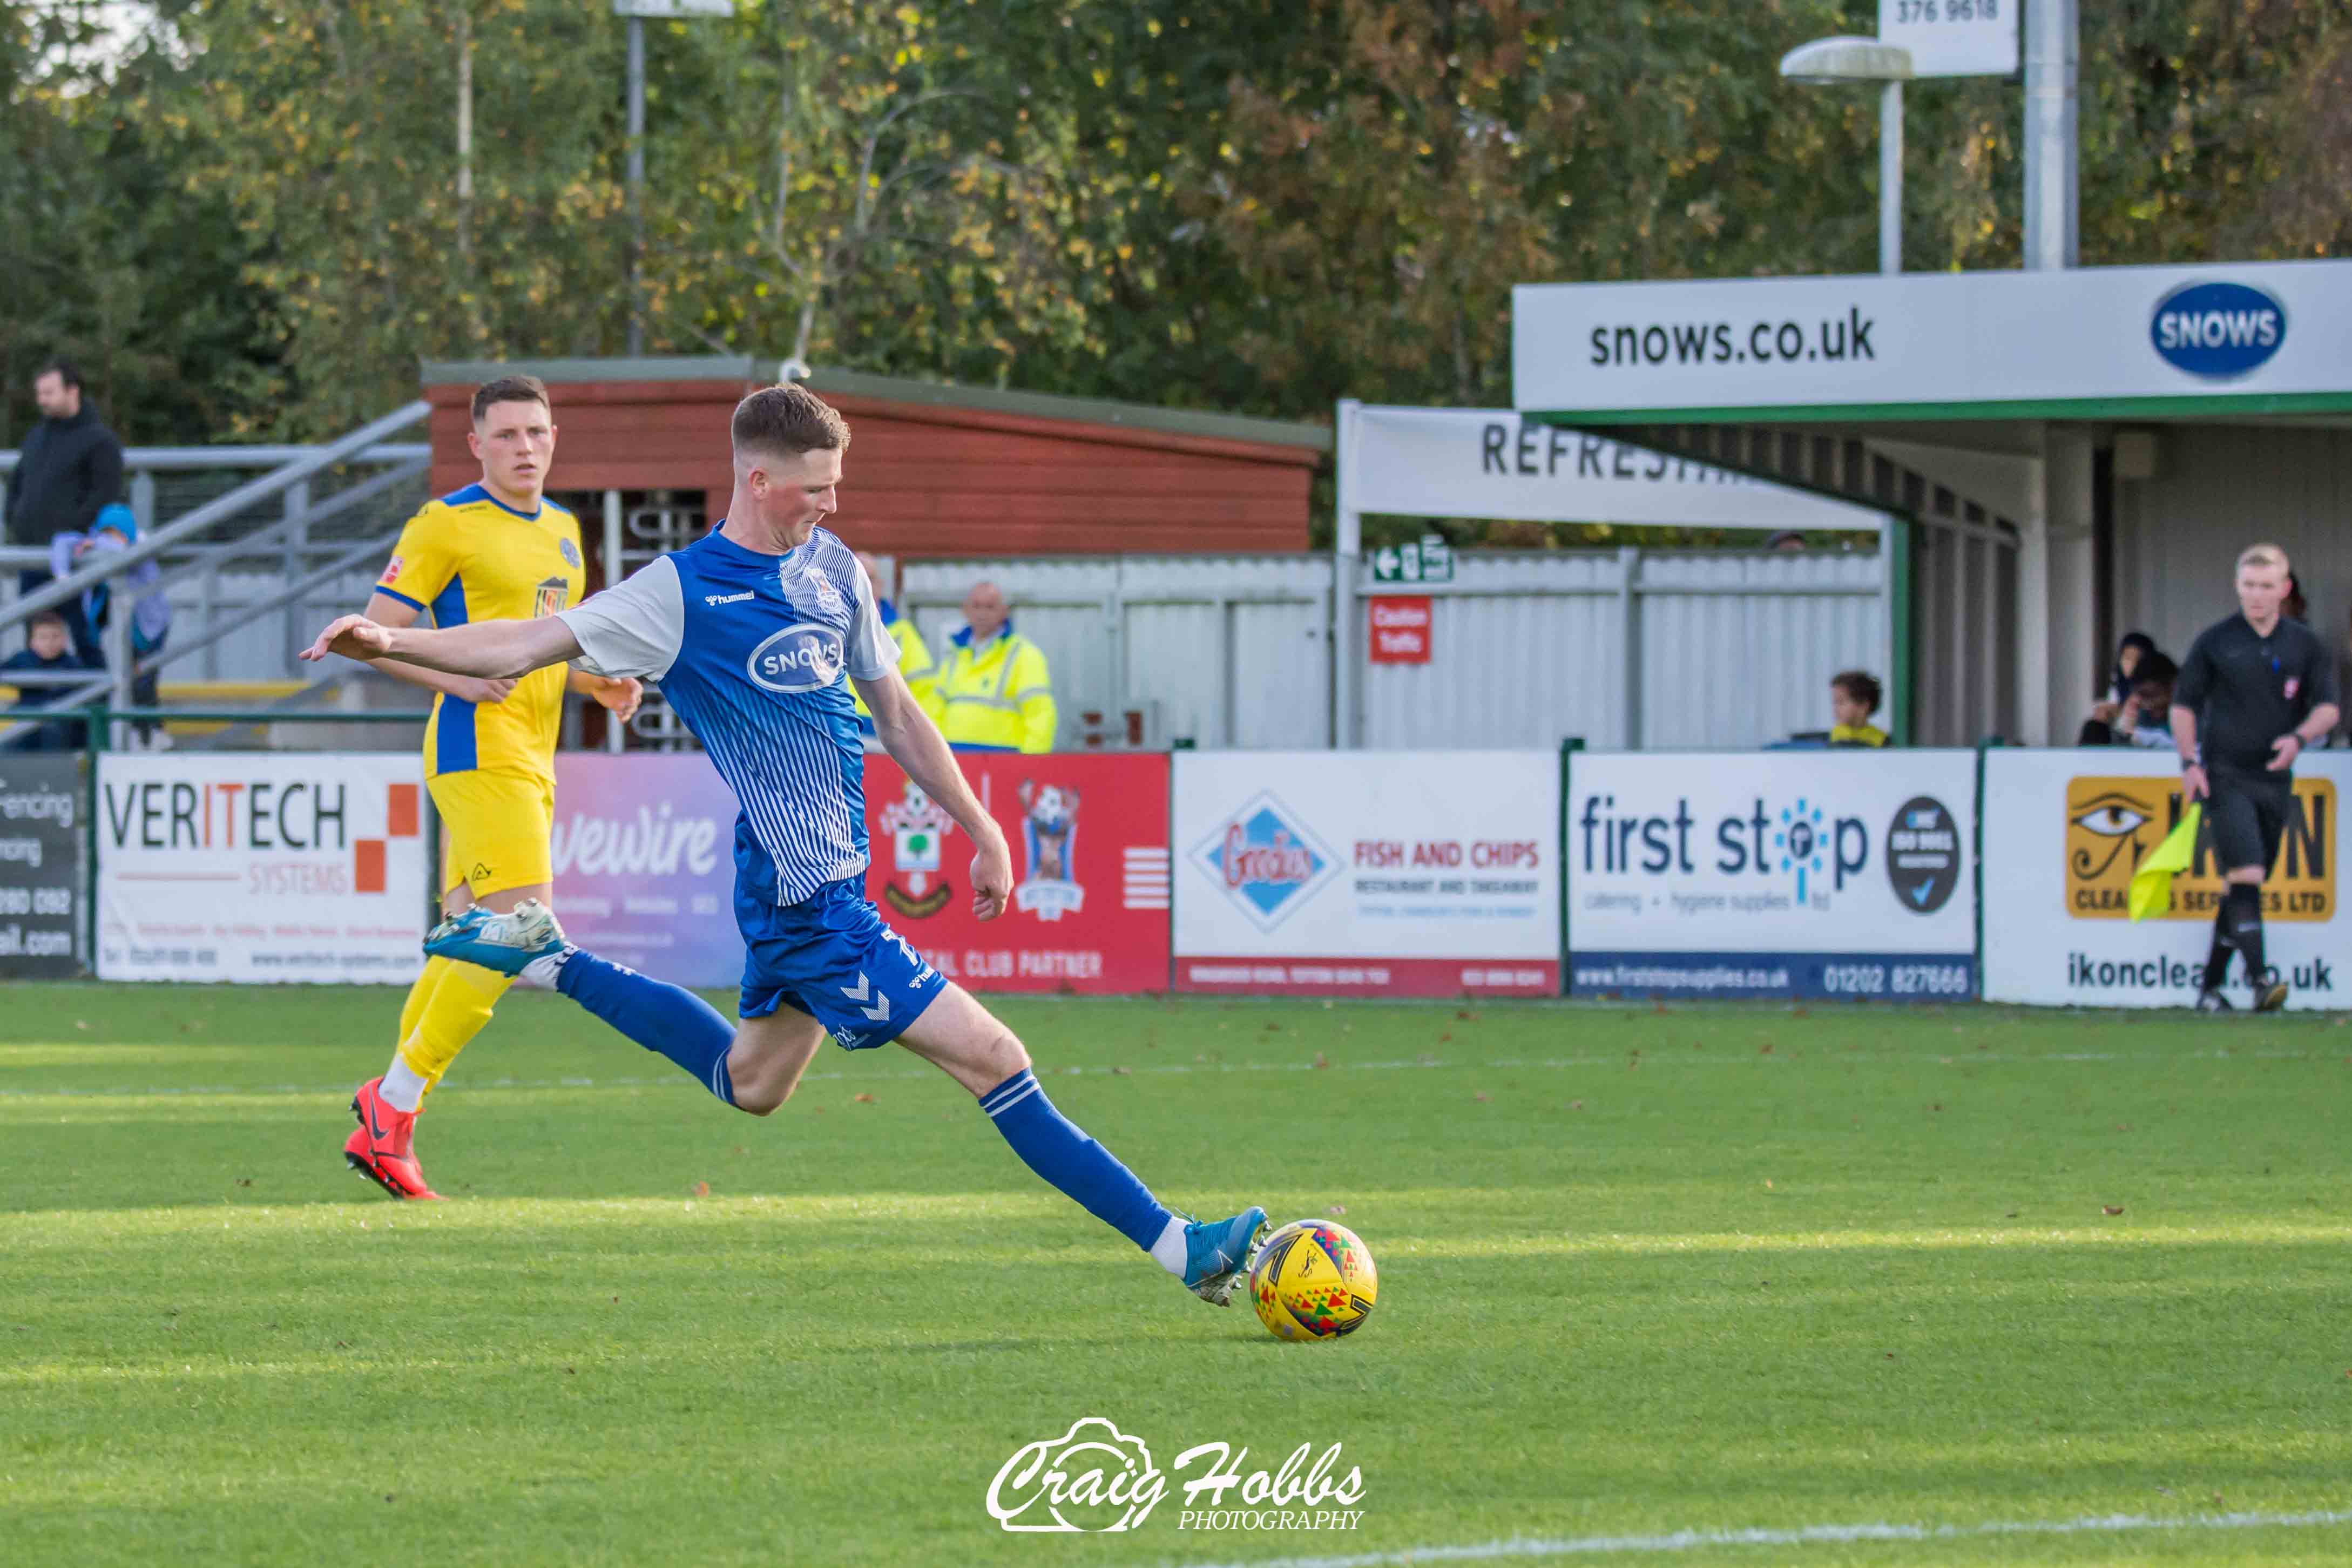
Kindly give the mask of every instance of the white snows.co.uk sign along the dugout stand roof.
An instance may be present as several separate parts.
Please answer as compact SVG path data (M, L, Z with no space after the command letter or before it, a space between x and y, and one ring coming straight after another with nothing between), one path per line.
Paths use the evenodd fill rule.
M1588 421L2352 395L2352 261L1512 289L1512 402Z

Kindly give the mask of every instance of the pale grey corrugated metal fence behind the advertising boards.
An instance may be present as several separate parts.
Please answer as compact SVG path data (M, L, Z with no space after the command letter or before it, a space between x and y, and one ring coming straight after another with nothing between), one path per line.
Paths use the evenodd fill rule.
M1334 743L1324 555L910 564L903 599L934 656L981 578L1054 668L1061 745L1084 712L1124 710L1152 715L1162 745ZM1463 552L1451 583L1357 583L1374 592L1432 599L1430 663L1359 665L1348 745L1752 748L1828 729L1830 675L1889 677L1875 552Z

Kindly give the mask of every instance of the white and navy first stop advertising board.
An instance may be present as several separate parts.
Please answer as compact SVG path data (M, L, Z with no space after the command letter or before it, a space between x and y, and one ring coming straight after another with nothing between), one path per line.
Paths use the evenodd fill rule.
M1973 752L1581 752L1569 992L1964 999Z

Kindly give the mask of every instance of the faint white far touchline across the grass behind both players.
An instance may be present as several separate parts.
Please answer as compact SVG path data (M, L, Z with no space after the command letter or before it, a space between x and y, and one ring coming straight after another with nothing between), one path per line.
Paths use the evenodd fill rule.
M1216 1074L1216 1072L1416 1072L1416 1070L1512 1070L1512 1067L1625 1067L1639 1063L1644 1067L1766 1067L1788 1070L1795 1065L1940 1065L1940 1067L1966 1067L1971 1063L1999 1063L2013 1067L2034 1067L2044 1063L2058 1065L2082 1065L2082 1063L2321 1063L2333 1053L2324 1051L2044 1051L2037 1056L2009 1056L1999 1051L1962 1051L1957 1056L1947 1053L1896 1053L1896 1056L1856 1056L1856 1053L1820 1053L1806 1056L1802 1051L1776 1053L1776 1056L1745 1056L1740 1051L1717 1051L1712 1056L1679 1051L1658 1053L1635 1053L1625 1056L1498 1056L1486 1060L1444 1060L1444 1058L1416 1058L1416 1060L1392 1060L1392 1063L1329 1063L1317 1067L1315 1063L1136 1063L1117 1067L1040 1067L1037 1074L1044 1079L1058 1077L1138 1077L1138 1074ZM5 1058L5 1048L0 1048ZM807 1072L804 1084L821 1084L826 1079L929 1079L936 1077L931 1070L858 1070L858 1072ZM560 1079L487 1079L477 1084L449 1084L440 1093L487 1093L499 1088L691 1088L694 1081L687 1077L656 1074L656 1077L576 1077L567 1074ZM158 1095L214 1095L228 1100L261 1098L261 1095L343 1095L350 1093L353 1084L158 1084L151 1088L0 1088L0 1100L148 1100Z

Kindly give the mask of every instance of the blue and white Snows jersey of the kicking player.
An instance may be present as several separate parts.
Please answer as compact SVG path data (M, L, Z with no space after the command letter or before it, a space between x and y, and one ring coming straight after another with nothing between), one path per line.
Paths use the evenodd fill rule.
M814 529L760 555L717 529L562 611L579 668L661 682L736 792L736 884L793 905L866 870L866 755L849 675L898 663L866 574Z

